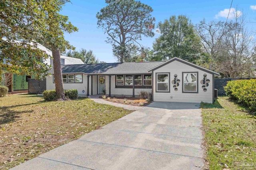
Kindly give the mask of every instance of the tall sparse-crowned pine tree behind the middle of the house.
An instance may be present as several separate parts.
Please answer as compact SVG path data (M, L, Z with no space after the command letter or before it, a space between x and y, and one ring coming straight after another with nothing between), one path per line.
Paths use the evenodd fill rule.
M142 35L154 36L153 9L135 0L106 0L106 4L96 15L97 24L108 35L106 42L112 44L114 55L122 63L127 45L140 45Z

